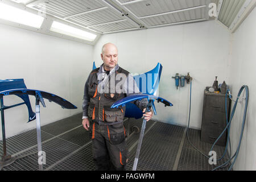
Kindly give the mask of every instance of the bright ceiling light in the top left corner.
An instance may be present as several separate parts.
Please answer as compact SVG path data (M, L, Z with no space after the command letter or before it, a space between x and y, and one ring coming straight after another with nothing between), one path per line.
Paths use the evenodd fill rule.
M30 27L40 28L44 18L42 16L20 10L16 7L0 3L0 19L24 24Z

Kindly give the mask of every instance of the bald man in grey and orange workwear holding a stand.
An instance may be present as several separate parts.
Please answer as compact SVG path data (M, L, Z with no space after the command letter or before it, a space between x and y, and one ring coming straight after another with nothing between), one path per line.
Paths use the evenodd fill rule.
M110 107L114 102L140 92L129 72L117 64L118 49L114 44L107 43L102 47L101 59L103 64L90 72L85 83L82 125L85 130L90 130L96 170L125 170L128 153L123 126L125 106ZM143 113L147 103L147 99L134 102ZM143 116L149 121L152 111Z

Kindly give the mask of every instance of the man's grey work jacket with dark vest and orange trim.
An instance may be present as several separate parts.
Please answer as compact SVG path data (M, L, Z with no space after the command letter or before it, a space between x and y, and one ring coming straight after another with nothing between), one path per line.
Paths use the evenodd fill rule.
M126 96L140 93L138 86L129 72L118 65L109 75L106 75L103 68L102 64L100 68L94 69L86 80L82 116L100 124L122 122L125 106L115 109L110 109L110 106ZM133 102L141 110L147 106L147 103L147 99Z

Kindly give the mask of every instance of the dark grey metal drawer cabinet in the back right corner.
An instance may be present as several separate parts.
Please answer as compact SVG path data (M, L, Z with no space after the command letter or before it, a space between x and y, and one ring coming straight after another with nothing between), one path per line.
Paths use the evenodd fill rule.
M228 118L230 114L230 99L227 100ZM204 91L203 119L201 125L201 140L213 144L226 127L225 94ZM216 143L226 144L226 132Z

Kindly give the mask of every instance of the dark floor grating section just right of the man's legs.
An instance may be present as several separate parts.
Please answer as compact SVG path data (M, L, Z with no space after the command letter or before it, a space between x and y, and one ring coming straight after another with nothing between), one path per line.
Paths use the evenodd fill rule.
M169 171L174 166L184 128L157 122L143 137L137 170ZM132 170L137 145L129 154L127 169Z

